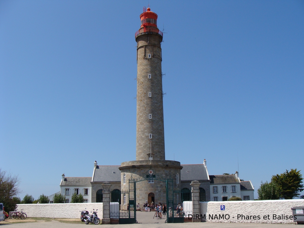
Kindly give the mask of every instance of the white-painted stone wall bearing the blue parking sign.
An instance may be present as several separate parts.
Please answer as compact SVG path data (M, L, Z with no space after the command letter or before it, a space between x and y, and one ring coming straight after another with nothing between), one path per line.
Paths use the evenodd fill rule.
M213 223L293 223L295 206L304 206L304 199L200 202L199 216Z

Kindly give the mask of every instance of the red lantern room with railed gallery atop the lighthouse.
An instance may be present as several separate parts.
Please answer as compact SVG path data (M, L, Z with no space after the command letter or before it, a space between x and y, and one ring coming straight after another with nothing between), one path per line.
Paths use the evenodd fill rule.
M135 33L135 38L142 33L158 33L163 36L163 33L157 28L157 14L152 12L150 8L143 7L143 13L140 14L141 26Z

